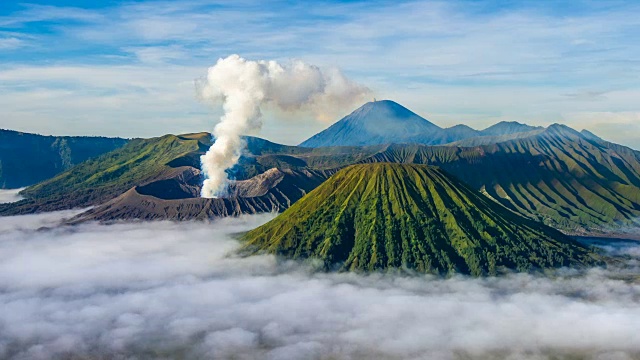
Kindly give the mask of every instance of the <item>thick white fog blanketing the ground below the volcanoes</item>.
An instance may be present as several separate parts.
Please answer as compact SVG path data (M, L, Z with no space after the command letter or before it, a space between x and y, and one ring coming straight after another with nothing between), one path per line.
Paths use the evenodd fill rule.
M325 274L229 257L269 216L0 218L0 358L640 358L640 247L553 277ZM640 245L640 243L638 243Z

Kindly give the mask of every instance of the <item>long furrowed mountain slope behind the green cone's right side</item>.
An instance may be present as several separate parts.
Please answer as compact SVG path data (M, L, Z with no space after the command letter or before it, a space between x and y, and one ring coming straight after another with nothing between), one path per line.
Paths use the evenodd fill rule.
M564 125L473 148L390 145L361 162L441 166L513 211L571 233L640 219L640 152Z

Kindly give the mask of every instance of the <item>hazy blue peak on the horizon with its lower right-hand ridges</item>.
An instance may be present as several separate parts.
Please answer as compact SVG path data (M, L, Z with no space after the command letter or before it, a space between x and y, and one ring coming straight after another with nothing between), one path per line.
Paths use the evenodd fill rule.
M441 128L394 101L381 100L364 104L300 146L442 145L476 137L505 140L510 135L541 129L517 122L500 122L480 131L466 125Z

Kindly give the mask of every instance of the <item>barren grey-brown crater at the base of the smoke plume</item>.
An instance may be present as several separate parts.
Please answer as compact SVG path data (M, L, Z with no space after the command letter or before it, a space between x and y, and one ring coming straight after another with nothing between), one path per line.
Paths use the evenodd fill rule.
M200 198L200 171L181 167L163 180L136 186L100 206L70 220L109 222L114 220L207 220L287 209L315 189L333 172L319 170L267 170L231 185L225 198Z

